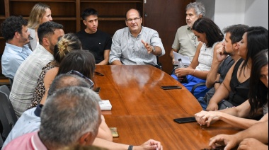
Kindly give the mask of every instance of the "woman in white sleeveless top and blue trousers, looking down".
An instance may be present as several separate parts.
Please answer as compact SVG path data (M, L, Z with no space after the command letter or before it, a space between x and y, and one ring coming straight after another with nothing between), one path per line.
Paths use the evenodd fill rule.
M221 41L224 38L222 31L209 18L199 18L195 21L193 33L200 41L193 61L189 67L175 69L175 74L171 75L178 81L182 79L181 76L186 76L188 81L183 85L188 88L188 91L191 91L197 83L205 83L207 73L210 71L212 64L213 52L216 52L222 46ZM204 97L208 90L209 88L206 86L198 86L194 92L195 98Z

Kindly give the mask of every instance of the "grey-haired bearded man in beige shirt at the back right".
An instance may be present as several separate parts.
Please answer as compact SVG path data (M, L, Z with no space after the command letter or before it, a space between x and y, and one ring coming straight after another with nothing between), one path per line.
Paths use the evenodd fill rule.
M184 56L189 57L190 62L196 52L196 47L199 44L197 38L193 34L193 23L205 16L205 6L201 2L190 3L186 6L186 23L176 31L175 40L173 41L170 57L172 63L176 64L178 60L174 60L173 52L178 52Z

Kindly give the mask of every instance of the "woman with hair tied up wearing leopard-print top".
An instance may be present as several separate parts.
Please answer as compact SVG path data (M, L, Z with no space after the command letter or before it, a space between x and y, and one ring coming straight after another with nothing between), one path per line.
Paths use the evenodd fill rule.
M61 39L55 45L55 50L53 53L53 56L55 57L54 61L49 62L45 67L42 68L41 74L38 77L38 86L35 87L33 100L28 109L35 108L40 103L41 99L45 95L45 91L47 91L48 87L50 86L45 86L44 83L44 78L47 71L54 67L59 67L59 63L62 62L62 59L64 59L65 55L67 55L72 50L79 49L81 49L81 42L74 33L68 33L61 37Z

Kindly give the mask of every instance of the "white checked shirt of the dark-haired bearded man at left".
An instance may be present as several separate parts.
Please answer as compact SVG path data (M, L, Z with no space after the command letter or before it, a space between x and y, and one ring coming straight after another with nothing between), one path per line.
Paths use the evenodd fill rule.
M18 67L9 96L18 117L30 106L42 68L53 59L50 52L42 45L38 45L35 51Z

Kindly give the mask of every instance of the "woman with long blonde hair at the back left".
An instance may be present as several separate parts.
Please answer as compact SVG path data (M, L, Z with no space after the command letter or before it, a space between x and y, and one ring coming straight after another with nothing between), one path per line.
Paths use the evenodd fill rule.
M47 4L38 3L33 6L28 19L28 30L30 32L29 47L32 51L39 44L38 27L42 23L52 21L52 11Z

